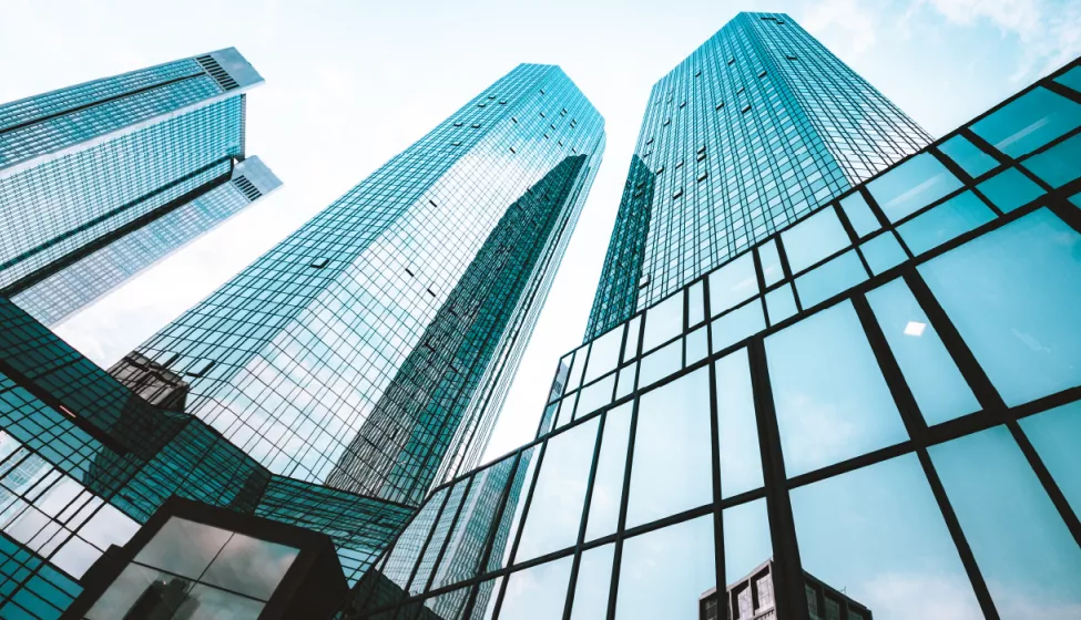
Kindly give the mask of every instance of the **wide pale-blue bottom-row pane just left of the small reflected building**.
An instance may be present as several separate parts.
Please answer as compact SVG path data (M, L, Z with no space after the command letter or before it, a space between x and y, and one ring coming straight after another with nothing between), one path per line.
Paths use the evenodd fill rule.
M697 618L698 597L717 585L716 575L711 515L628 538L615 617Z

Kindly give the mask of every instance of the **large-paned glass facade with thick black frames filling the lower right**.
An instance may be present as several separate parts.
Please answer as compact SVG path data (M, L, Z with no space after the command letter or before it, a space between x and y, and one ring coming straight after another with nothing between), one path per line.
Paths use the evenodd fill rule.
M438 487L341 617L1075 617L1079 71L569 353L537 438Z

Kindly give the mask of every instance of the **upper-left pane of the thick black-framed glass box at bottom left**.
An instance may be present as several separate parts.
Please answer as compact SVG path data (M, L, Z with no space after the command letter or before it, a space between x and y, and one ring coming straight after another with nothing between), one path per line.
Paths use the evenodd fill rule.
M217 527L170 517L139 551L135 561L198 579L232 535Z

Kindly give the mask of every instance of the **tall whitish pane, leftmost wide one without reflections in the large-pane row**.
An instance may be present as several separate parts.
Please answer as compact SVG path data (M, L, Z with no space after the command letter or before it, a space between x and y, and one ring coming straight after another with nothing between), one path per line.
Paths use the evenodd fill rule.
M578 542L599 417L548 440L516 562Z

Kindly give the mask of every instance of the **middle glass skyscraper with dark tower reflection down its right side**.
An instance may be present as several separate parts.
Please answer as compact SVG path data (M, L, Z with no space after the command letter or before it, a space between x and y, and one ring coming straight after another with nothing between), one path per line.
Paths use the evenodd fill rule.
M136 352L271 471L417 504L482 454L603 144L520 65Z

